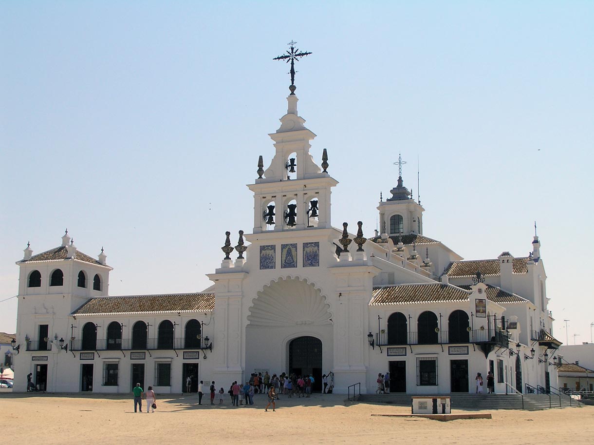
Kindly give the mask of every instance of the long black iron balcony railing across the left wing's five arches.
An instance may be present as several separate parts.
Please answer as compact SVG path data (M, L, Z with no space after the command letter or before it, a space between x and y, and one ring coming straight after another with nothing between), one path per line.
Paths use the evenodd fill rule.
M71 340L70 349L73 351L119 351L119 350L173 350L173 349L200 349L201 343L197 339L97 339L93 341Z

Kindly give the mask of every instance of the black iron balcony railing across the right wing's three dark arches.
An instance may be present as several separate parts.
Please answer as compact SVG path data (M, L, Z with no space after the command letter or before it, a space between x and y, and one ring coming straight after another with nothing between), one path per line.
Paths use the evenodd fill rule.
M494 343L501 347L509 346L509 338L501 331L480 330L463 331L451 333L449 331L439 331L421 333L418 332L401 333L389 339L387 332L375 334L375 344L377 346L407 346L409 344L460 344L460 343Z

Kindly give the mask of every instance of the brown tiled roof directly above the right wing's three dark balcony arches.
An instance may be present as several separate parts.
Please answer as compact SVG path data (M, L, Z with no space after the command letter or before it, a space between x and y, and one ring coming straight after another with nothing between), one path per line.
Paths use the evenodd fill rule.
M468 301L470 292L451 284L399 284L373 288L370 306Z

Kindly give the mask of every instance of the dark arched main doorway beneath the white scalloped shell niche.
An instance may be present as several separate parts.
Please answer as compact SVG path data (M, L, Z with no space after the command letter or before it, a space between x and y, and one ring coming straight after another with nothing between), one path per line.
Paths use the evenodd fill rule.
M322 390L322 342L315 337L298 337L289 343L289 374L312 375L312 391Z

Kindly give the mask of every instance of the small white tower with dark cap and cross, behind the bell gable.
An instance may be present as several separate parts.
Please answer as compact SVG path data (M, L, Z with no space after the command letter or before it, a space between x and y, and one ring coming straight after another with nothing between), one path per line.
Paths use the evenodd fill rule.
M380 200L377 209L380 211L380 231L388 236L406 234L423 234L423 217L425 209L416 202L412 192L404 186L402 180L402 161L398 156L398 183L390 190L391 198Z

